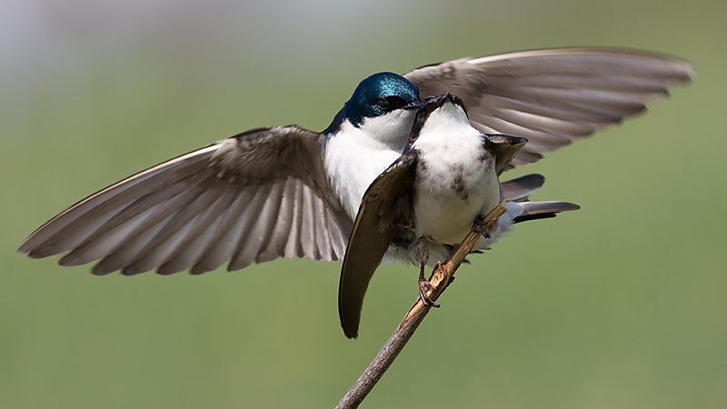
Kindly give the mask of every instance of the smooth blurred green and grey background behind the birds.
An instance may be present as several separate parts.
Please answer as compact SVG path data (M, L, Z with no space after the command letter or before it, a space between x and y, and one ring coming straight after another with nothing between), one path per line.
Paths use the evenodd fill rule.
M340 264L95 277L15 249L67 205L264 125L323 129L379 71L579 45L698 75L547 155L583 206L472 258L362 407L727 407L727 3L0 3L0 408L333 407L415 296L384 266L358 340Z

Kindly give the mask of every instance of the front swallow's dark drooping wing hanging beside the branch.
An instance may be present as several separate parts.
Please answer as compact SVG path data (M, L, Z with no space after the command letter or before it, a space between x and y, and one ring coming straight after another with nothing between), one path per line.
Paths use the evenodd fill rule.
M393 223L411 212L405 199L413 191L416 151L403 154L369 186L359 207L354 231L348 241L341 281L338 286L338 314L344 334L358 335L364 295L373 272L394 238L402 233Z

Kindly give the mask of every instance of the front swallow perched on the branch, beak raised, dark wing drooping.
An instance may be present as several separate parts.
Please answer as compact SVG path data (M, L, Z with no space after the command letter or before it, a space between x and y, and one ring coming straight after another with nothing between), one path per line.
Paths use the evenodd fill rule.
M543 185L527 175L501 185L525 138L483 135L473 128L460 98L430 98L418 111L403 155L369 186L354 223L339 283L339 315L344 334L358 332L364 295L388 251L420 265L419 294L426 295L424 266L444 261L473 224L506 200L507 212L483 232L474 250L489 248L513 231L513 224L576 210L564 202L527 202ZM431 258L430 254L436 254ZM433 264L430 263L430 264Z

